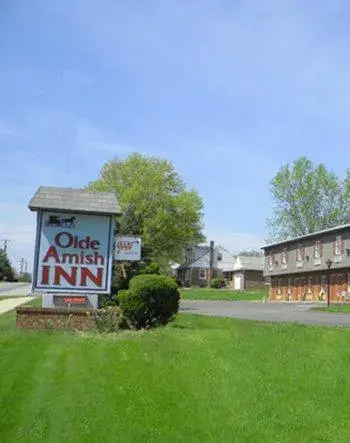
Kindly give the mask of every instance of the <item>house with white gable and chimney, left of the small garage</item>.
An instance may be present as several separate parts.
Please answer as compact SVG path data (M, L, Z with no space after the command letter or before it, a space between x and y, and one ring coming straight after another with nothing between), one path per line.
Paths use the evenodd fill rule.
M223 277L235 263L233 254L222 246L214 247L213 275ZM182 286L207 286L210 279L210 246L194 246L186 250L185 260L176 269L176 279Z

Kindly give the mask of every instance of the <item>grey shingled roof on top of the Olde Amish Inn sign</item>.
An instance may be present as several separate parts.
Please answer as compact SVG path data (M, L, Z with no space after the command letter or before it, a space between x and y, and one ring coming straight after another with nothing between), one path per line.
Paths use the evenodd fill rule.
M40 186L29 202L31 211L51 210L118 215L121 213L113 192Z

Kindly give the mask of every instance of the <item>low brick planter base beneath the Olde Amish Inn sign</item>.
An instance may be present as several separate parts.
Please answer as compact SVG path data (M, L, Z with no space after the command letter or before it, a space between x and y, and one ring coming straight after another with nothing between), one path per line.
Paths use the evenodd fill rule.
M16 308L16 327L21 329L45 329L66 331L90 331L96 329L93 310Z

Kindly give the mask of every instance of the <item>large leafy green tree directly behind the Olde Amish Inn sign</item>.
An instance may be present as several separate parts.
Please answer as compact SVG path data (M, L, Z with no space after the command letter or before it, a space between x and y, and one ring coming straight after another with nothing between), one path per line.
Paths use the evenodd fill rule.
M123 212L118 232L140 235L144 258L164 266L204 240L202 199L167 160L132 154L108 161L88 187L116 193Z

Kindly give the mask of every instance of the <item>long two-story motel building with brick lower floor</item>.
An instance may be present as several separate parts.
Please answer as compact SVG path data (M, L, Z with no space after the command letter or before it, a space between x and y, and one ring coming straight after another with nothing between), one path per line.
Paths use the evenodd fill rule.
M350 301L350 224L263 247L271 301Z

